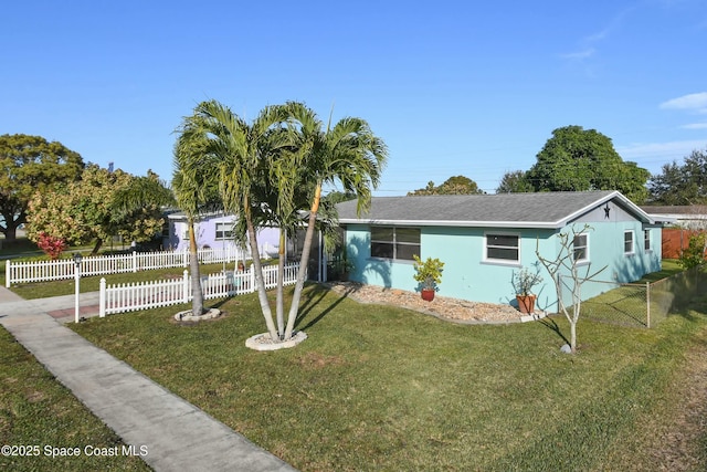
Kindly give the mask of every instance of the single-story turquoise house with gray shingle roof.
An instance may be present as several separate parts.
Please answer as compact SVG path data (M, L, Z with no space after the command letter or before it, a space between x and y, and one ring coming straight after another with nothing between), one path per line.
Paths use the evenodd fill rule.
M444 262L440 295L516 305L514 275L526 268L544 277L532 290L537 308L555 312L556 289L536 249L555 260L558 234L585 224L572 256L592 272L605 266L595 279L608 283L585 284L583 300L661 269L661 224L619 191L374 197L361 214L356 201L337 208L349 279L366 284L419 290L419 254Z

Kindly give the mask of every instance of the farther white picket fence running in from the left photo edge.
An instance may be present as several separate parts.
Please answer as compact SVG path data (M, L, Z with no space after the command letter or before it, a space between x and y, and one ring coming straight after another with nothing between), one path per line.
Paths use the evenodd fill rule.
M251 256L235 247L200 249L202 264L250 260ZM189 266L189 251L133 252L129 254L86 256L81 260L81 276L116 274L120 272L149 271L163 268ZM76 264L73 259L57 261L13 262L6 264L6 287L12 284L74 279Z

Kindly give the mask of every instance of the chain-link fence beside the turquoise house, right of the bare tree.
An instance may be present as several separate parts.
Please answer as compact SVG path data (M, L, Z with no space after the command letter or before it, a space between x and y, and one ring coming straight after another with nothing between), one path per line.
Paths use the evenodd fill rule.
M563 277L571 286L571 279ZM693 297L707 289L707 274L695 268L667 279L645 283L585 281L584 290L603 292L581 304L581 317L622 326L653 327L669 314L685 310ZM571 311L571 293L562 297Z

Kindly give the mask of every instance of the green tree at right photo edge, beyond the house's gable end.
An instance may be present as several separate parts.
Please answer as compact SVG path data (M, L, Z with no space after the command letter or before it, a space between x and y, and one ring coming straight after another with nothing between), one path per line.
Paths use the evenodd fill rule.
M707 203L707 149L693 150L682 165L665 164L648 181L651 202L658 204Z

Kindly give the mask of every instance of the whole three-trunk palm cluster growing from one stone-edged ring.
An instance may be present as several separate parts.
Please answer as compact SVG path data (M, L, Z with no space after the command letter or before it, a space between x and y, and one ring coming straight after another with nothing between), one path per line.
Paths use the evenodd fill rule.
M226 211L238 216L236 234L251 247L261 310L271 339L292 338L304 287L312 240L317 228L330 222L319 219L321 188L339 182L345 192L370 200L371 187L380 179L387 150L368 124L344 118L323 129L316 114L304 104L291 102L265 107L251 123L215 101L197 106L182 125L188 143L205 143L199 154L213 157L219 190ZM209 160L211 162L211 160ZM213 177L211 177L213 178ZM308 209L302 263L286 326L282 274L284 238L302 227L302 210ZM277 325L263 283L256 230L265 224L281 228Z

